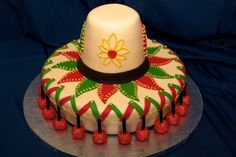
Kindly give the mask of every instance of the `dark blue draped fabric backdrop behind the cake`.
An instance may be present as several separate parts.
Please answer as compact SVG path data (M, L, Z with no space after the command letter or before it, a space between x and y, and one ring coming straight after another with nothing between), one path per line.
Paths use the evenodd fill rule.
M235 0L0 0L0 156L69 156L33 135L23 96L47 56L79 37L87 13L111 2L136 9L149 38L178 53L202 93L197 132L166 156L236 156Z

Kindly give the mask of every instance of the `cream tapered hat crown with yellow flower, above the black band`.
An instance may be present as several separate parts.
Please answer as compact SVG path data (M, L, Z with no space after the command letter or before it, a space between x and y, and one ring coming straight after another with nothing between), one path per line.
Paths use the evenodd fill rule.
M138 13L125 5L107 4L93 9L85 22L81 59L102 73L121 73L145 60L145 39Z

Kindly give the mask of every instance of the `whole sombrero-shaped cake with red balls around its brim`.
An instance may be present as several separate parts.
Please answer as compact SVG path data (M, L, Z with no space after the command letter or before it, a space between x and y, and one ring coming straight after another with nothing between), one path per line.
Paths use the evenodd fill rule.
M180 58L147 38L139 14L108 4L87 16L79 39L57 49L45 62L38 105L55 130L72 124L72 136L93 132L95 143L118 134L129 144L149 127L166 133L187 112L186 73ZM55 110L56 109L56 110Z

